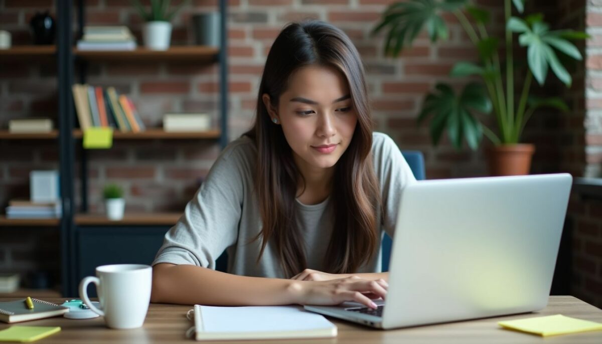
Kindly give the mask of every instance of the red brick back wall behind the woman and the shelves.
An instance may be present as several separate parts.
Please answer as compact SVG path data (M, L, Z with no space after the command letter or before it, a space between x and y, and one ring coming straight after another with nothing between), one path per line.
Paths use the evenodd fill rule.
M140 38L141 21L129 2L85 2L88 23L128 25ZM450 146L447 138L442 140L441 146L433 148L427 127L415 127L415 116L424 93L436 81L452 81L458 85L464 83L448 79L446 75L456 61L476 59L473 46L459 23L450 17L447 19L450 28L448 42L431 45L421 35L415 48L404 52L401 58L383 57L382 38L375 39L368 33L390 2L392 1L229 1L230 138L238 137L252 123L256 91L265 57L282 26L291 20L315 18L334 23L350 35L367 67L376 129L391 135L402 149L424 152L427 178L486 174L482 150L471 152L463 149L458 152ZM479 2L493 11L494 23L491 26L499 32L503 21L501 2ZM583 0L577 1L577 4L582 2ZM565 23L577 25L575 20L579 20L579 11L573 10L575 4L575 1L561 1L558 8L554 8L545 1L538 1L532 6L546 12L554 11L554 14L558 10L562 13L560 16L563 16L559 26L566 27ZM54 6L53 0L0 0L0 29L13 34L15 45L28 44L29 18L37 9L50 8L51 13L54 13ZM217 10L216 1L192 1L173 20L172 44L192 44L194 37L189 30L191 14L214 10ZM591 44L596 41L594 38ZM5 127L10 118L16 117L44 115L56 118L55 70L52 63L0 66L0 127ZM161 115L167 111L205 111L217 117L216 71L216 66L193 64L92 64L87 81L96 85L114 85L118 90L131 94L146 124L157 126ZM571 171L575 176L582 175L582 161L585 161L582 144L585 140L585 111L583 88L579 88L579 85L583 85L585 80L583 74L574 77L575 86L569 90L555 86L545 90L571 99L573 113L536 115L529 123L525 141L538 144L533 164L533 171L536 173L562 170ZM520 84L518 79L517 84ZM588 108L595 104L598 103L590 103L588 100ZM570 129L565 131L565 128ZM588 140L594 143L600 141L591 136L588 136ZM0 207L3 208L9 198L28 196L26 176L29 170L57 167L56 146L54 141L0 141ZM102 211L100 190L106 182L113 181L126 186L126 209L129 211L181 211L196 190L197 179L206 174L218 152L216 144L196 140L117 141L111 150L88 152L90 210ZM81 156L80 153L76 150L76 156ZM75 186L76 195L79 195L77 181ZM582 209L578 205L574 207ZM589 206L584 206L583 209L589 209ZM585 214L587 211L585 210ZM14 235L14 232L11 233ZM17 256L7 252L11 251L0 247L0 258L3 253L5 257L0 260L0 271L10 266L7 262L11 262L13 266L17 262ZM26 254L18 257L25 260ZM600 266L602 265L598 263L598 269Z

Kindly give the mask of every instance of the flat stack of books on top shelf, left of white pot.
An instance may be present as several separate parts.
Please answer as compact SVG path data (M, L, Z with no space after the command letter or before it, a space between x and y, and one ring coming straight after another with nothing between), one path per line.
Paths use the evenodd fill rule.
M77 48L87 51L127 51L136 49L136 40L127 26L85 26Z

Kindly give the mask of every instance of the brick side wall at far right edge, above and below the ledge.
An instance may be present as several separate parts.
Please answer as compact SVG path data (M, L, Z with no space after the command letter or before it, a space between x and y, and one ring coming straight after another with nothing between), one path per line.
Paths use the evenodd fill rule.
M585 75L582 90L566 94L577 104L577 111L565 131L573 138L570 147L576 155L566 159L565 165L579 168L578 176L602 177L602 1L567 1L564 10L561 13L567 13L569 20L574 14L576 28L586 28L592 36L582 45L586 55L578 70ZM602 199L573 194L568 220L573 247L571 292L602 307Z

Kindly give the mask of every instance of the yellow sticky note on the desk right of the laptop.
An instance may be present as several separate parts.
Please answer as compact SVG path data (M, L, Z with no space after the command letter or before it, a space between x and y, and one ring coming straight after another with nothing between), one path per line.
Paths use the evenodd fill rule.
M539 336L556 336L557 334L602 330L599 322L570 318L563 315L539 316L537 318L500 321L501 327L518 330Z

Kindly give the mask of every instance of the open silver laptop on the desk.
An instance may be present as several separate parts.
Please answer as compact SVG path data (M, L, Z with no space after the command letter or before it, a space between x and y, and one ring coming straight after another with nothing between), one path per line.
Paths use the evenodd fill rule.
M305 306L376 328L545 308L572 177L424 180L407 186L379 309Z

